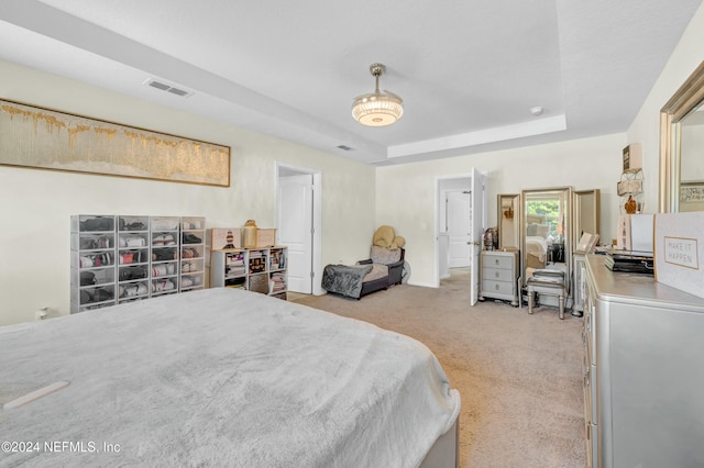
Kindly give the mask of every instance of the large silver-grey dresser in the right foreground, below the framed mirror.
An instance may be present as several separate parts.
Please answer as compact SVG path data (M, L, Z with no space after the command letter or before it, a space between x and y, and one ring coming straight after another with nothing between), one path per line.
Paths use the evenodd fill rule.
M586 256L587 466L704 466L704 299Z

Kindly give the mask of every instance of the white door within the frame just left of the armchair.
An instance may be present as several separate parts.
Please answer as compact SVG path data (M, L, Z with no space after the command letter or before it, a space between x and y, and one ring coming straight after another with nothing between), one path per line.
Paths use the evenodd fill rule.
M288 290L312 293L312 175L278 179L277 244L288 247Z

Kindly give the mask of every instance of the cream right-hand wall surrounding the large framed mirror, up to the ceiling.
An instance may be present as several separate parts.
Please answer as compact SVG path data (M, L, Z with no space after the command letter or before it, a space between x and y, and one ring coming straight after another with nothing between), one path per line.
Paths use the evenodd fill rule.
M628 129L629 143L642 145L646 211L658 211L660 109L704 60L704 3L692 18L668 64Z

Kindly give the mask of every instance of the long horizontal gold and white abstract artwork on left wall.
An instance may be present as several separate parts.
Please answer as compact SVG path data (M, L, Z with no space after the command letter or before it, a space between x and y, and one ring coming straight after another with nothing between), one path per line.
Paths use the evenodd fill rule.
M230 147L0 100L0 165L230 186Z

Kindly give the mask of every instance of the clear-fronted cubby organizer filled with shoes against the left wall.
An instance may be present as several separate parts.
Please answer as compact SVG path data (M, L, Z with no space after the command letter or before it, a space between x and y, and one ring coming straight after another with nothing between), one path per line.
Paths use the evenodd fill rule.
M205 288L206 219L70 219L70 312Z

